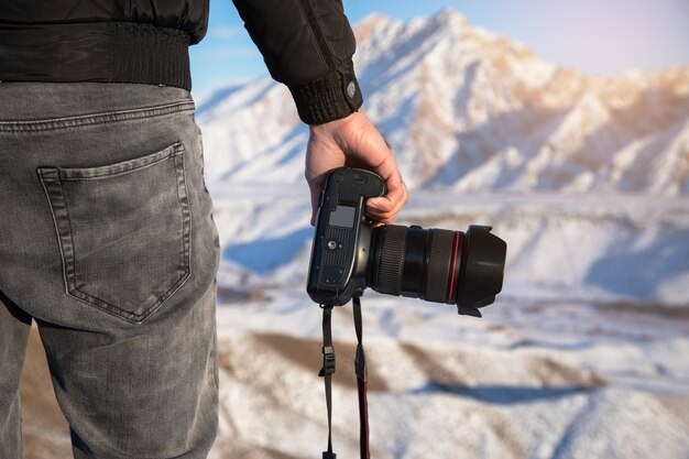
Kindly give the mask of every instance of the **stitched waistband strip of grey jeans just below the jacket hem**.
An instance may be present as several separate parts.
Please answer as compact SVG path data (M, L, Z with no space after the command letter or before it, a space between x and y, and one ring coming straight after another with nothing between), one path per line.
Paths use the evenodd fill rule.
M110 111L75 117L53 118L45 120L0 121L0 132L41 132L68 128L80 128L119 121L131 121L173 114L182 111L194 111L193 101L179 101L156 107L143 107L130 110Z

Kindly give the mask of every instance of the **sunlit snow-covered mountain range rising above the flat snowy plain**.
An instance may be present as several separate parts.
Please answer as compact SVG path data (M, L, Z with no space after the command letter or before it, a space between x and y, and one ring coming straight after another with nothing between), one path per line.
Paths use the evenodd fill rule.
M364 109L412 187L689 194L689 66L591 77L452 10L357 28ZM270 78L200 105L211 181L302 179L306 129Z

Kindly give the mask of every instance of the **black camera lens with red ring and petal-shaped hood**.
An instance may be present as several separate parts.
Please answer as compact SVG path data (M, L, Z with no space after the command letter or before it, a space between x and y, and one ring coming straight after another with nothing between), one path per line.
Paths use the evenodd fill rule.
M368 284L383 294L456 304L460 314L481 316L478 308L502 289L505 263L506 244L490 230L373 228Z

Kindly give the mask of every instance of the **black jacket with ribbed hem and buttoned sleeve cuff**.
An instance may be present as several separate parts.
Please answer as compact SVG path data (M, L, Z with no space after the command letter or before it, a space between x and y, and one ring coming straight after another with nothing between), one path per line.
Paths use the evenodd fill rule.
M302 120L322 123L361 106L341 0L233 1ZM208 0L0 0L0 80L190 89L188 46L207 24Z

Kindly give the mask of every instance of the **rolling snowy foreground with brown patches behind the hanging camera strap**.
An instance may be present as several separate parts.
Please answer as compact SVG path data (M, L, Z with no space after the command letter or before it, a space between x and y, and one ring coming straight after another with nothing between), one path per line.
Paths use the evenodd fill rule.
M221 367L215 457L230 444L299 458L325 447L320 310L296 289L271 294L219 309L231 362ZM686 318L514 299L499 299L483 319L375 295L363 306L373 457L689 453ZM357 457L350 313L339 308L333 320L333 441L339 455Z

